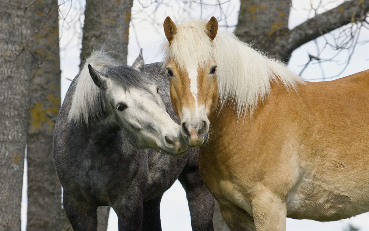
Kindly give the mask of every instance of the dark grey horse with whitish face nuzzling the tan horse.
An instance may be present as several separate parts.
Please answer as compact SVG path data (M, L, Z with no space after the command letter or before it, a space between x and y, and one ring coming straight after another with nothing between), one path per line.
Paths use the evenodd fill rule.
M142 50L132 67L100 50L73 79L53 153L75 231L97 230L99 206L114 209L119 231L161 231L160 201L176 179L186 191L193 230L213 231L214 199L200 178L199 150L184 152L161 67L144 65Z

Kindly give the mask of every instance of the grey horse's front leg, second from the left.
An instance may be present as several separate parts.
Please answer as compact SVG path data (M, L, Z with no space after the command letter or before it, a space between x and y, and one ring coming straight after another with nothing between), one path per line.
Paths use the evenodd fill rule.
M141 231L144 214L142 196L142 193L134 191L119 203L114 203L112 207L118 217L118 231Z

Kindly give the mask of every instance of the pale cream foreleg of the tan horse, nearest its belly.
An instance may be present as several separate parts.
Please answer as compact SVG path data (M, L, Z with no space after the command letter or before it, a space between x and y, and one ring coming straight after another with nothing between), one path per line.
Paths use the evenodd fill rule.
M286 231L287 205L276 194L259 191L252 196L251 205L256 230Z

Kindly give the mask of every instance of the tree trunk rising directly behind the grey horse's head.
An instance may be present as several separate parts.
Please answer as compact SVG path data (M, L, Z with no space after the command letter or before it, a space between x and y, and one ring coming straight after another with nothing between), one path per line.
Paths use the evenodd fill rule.
M132 5L133 0L86 1L80 68L92 50L103 44L106 51L115 51L115 59L127 62Z

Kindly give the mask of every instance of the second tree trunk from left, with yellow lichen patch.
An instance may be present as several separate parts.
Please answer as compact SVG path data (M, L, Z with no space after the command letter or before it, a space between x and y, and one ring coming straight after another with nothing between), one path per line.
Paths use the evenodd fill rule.
M57 0L37 0L28 10L34 34L30 51L37 70L30 81L28 123L27 231L60 230L61 186L52 156L52 138L60 109L60 61Z

